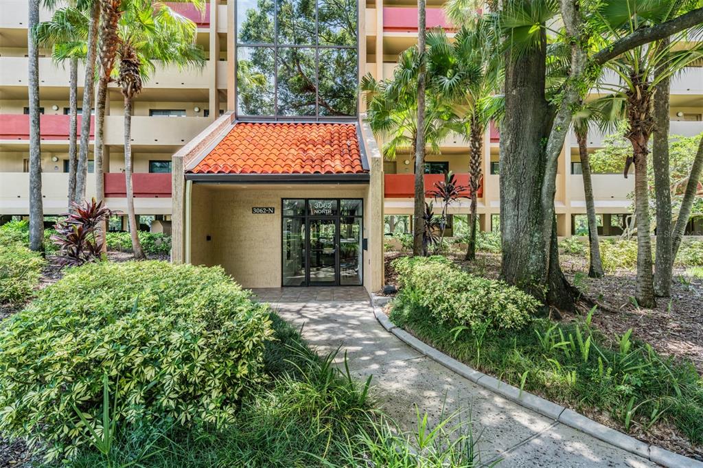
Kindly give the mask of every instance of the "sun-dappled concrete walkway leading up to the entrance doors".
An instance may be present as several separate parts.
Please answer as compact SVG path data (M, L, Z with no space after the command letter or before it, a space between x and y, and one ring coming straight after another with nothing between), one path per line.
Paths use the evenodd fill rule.
M262 294L263 296L266 294ZM271 306L320 353L342 346L359 379L373 375L372 395L405 429L415 405L437 422L442 412L470 412L481 460L501 467L655 467L632 453L523 408L473 384L389 334L368 301L283 301ZM467 419L467 417L464 417Z

